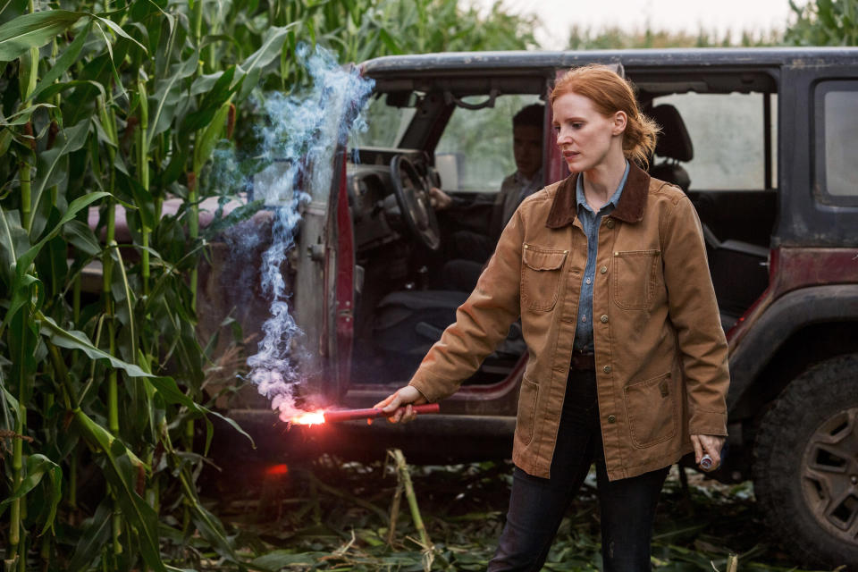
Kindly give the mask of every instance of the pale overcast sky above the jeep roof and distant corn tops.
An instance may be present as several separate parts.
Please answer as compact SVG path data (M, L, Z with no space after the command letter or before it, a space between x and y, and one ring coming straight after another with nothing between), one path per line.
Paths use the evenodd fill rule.
M489 9L495 0L470 0ZM806 4L796 0L795 4ZM788 0L503 0L509 13L534 13L543 22L536 39L545 49L564 49L569 29L578 23L585 28L686 31L696 34L701 27L734 36L784 29L792 11Z

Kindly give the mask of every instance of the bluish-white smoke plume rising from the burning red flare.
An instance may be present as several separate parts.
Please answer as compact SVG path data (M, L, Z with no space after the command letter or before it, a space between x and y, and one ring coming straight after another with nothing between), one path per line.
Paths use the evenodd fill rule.
M329 192L338 144L348 140L350 130L364 128L358 112L374 85L357 70L343 68L321 47L310 52L301 46L298 55L312 86L300 97L273 94L266 98L263 105L271 125L261 130L260 137L262 158L272 165L254 184L254 198L273 207L271 246L265 250L260 270L271 316L248 366L250 380L283 420L300 412L296 405L300 378L292 341L301 332L290 315L282 265L295 247L300 207L311 197Z

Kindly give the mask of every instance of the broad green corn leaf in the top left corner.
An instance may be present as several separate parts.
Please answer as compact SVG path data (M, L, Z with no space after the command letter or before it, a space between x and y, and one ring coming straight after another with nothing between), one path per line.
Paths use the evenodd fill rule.
M46 10L7 21L0 26L0 62L11 62L31 47L44 46L86 16L83 12Z

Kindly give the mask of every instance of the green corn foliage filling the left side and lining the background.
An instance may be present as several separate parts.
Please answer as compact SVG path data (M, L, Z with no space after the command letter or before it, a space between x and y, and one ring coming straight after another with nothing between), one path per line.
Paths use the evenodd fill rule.
M783 38L740 42L855 44L855 0L794 11ZM530 49L537 24L500 2L479 13L453 0L0 5L6 569L165 570L211 558L245 568L259 556L196 484L216 415L205 390L217 341L195 331L198 208L234 190L206 181L206 164L217 149L253 147L254 101L306 84L301 42L341 62ZM725 43L650 29L574 29L569 40ZM129 236L117 234L117 205ZM103 278L88 282L87 268Z

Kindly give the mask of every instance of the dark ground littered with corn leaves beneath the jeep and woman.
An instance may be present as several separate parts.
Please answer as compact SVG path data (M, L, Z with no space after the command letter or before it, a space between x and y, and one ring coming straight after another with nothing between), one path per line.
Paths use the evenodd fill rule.
M400 477L390 462L240 467L218 480L213 509L232 526L251 568L266 570L483 570L501 533L512 465L409 466L414 501L432 551L423 550L407 495L391 531ZM730 553L745 570L796 570L755 514L753 485L724 485L671 469L653 537L656 570L725 570ZM595 474L587 477L544 570L598 570Z

